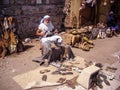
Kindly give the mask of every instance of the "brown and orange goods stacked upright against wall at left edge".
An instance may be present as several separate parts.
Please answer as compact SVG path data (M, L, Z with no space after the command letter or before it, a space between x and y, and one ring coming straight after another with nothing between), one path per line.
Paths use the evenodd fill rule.
M13 17L0 18L0 57L24 51L17 33L17 20Z

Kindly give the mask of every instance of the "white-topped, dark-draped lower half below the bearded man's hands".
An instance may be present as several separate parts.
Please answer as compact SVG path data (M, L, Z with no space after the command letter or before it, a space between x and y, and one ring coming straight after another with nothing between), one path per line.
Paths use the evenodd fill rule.
M42 38L42 62L48 66L51 62L62 62L64 59L74 59L74 54L71 48L62 43L62 38L59 35ZM46 63L47 62L47 63Z

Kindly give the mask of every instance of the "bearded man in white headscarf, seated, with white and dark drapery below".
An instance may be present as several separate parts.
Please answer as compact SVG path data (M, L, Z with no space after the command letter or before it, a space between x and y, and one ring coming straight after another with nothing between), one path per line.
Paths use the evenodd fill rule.
M56 32L56 31L55 31ZM62 60L64 53L66 57L74 58L74 54L70 47L62 44L62 38L59 35L56 35L54 32L54 26L50 21L50 16L46 15L41 20L41 24L36 31L36 34L40 36L40 42L42 45L42 57L40 60L34 60L41 63L48 62L47 65L52 61Z

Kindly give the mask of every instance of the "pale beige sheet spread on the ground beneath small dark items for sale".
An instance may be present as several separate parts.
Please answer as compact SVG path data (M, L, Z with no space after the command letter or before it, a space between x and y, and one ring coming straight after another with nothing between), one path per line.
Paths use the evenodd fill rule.
M64 62L64 65L71 65L73 63L77 63L79 62L79 64L76 64L78 66L81 66L82 68L85 67L85 62L84 62L84 58L81 57L76 57L75 61L66 61ZM47 75L47 81L46 83L44 81L42 81L42 76L43 74L40 74L40 70L45 70L45 69L49 69L50 72L45 73ZM32 87L33 85L36 86L36 84L38 84L37 82L40 82L39 87L44 87L44 86L51 86L51 85L57 85L60 83L56 83L59 78L66 78L66 80L69 80L73 77L75 77L76 75L78 75L79 73L76 71L72 71L73 74L72 75L60 75L60 74L51 74L53 71L55 71L57 68L49 65L48 67L44 67L44 66L40 66L35 70L32 71L28 71L26 73L17 75L15 77L13 77L13 79L23 88L23 89L28 89L30 87ZM57 78L55 78L57 77Z

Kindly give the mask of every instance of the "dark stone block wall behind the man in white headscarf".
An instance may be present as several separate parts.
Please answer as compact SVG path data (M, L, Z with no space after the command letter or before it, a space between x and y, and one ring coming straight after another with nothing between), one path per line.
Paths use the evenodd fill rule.
M0 0L0 15L13 16L18 21L21 38L34 37L40 19L48 14L58 30L63 18L65 0Z

